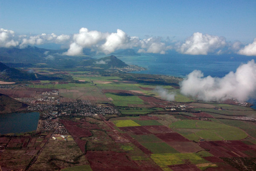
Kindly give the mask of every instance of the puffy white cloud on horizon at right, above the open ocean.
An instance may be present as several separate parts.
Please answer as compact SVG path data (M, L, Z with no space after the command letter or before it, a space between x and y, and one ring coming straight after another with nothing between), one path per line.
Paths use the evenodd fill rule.
M182 54L208 54L219 51L226 45L224 37L213 36L209 34L202 34L199 32L194 33L191 37L187 38L185 43L177 48ZM216 52L216 53L217 53Z

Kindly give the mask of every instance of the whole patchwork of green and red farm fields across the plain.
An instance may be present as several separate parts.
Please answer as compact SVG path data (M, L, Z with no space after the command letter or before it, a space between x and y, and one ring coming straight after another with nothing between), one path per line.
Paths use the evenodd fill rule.
M118 74L96 76L74 70L66 73L71 79L67 83L41 80L8 91L0 89L13 98L30 98L29 103L34 105L41 103L36 100L39 94L54 90L58 91L56 106L76 104L68 115L48 103L54 106L54 112L48 116L52 119L47 118L55 124L52 132L20 138L0 137L5 156L0 161L2 170L15 163L9 168L224 171L236 170L237 161L246 157L256 157L255 123L238 120L243 116L255 118L256 111L252 108L198 102L180 94L177 85L166 84L162 88L176 93L175 101L170 102L155 91L158 84L125 80L124 75ZM82 103L78 102L86 105L79 106ZM95 106L97 110L93 111ZM88 110L78 115L83 108ZM106 108L117 112L107 114ZM102 113L98 113L101 109ZM67 134L62 134L64 138L53 133L59 129L66 130Z

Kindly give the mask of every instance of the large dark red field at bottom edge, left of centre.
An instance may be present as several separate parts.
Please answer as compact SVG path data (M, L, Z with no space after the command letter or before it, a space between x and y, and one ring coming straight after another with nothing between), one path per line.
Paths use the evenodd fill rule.
M86 158L93 171L140 171L126 153L115 151L87 151Z

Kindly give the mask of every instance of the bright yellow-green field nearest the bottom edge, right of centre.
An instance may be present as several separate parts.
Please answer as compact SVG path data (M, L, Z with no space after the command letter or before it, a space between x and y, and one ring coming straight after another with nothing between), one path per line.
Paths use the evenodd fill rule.
M189 160L192 164L208 162L194 153L151 154L151 159L157 163L160 168L166 168L168 165L184 164L184 160Z

